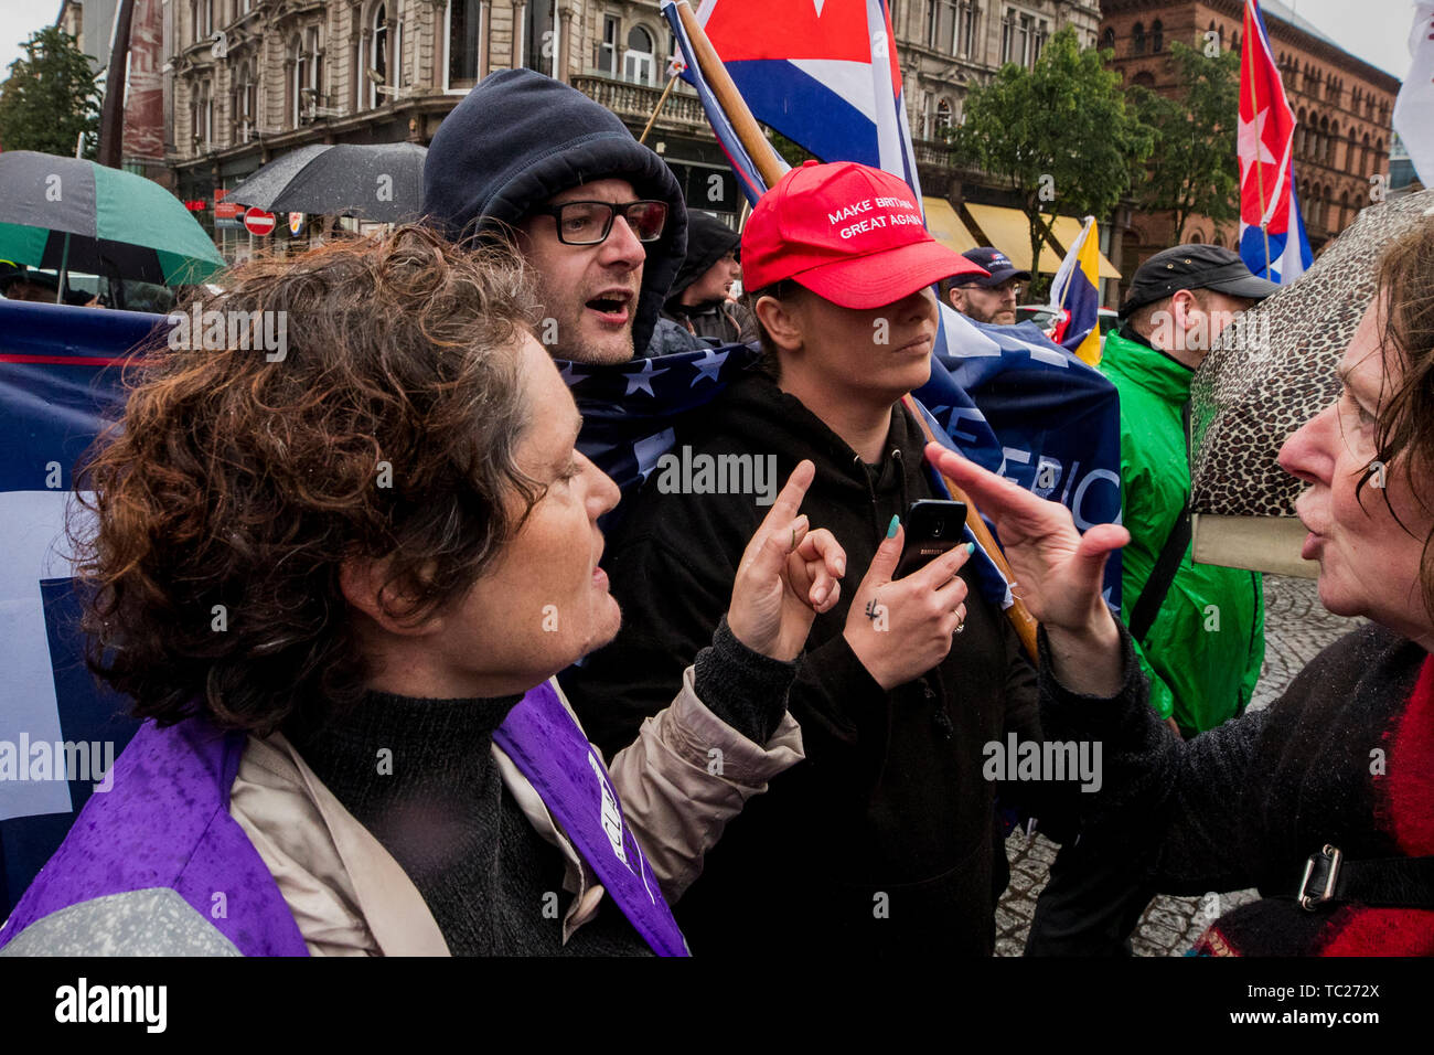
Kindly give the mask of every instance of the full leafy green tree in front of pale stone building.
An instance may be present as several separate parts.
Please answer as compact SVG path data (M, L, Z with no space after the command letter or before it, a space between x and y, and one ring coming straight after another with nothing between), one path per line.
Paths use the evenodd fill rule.
M1127 105L1107 57L1081 49L1067 26L1034 69L1008 63L974 89L965 122L951 133L958 164L1004 179L1021 195L1032 260L1040 260L1041 212L1108 217L1154 149L1153 129ZM1032 293L1040 294L1034 284Z

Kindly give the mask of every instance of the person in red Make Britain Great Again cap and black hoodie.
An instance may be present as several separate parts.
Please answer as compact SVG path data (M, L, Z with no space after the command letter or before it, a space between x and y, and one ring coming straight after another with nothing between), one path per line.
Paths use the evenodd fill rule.
M1007 863L982 745L1040 736L1035 672L965 545L892 581L901 518L938 495L899 400L929 375L931 286L975 264L931 238L899 178L852 162L787 174L743 261L767 369L680 426L675 451L779 474L815 461L803 511L860 584L816 619L789 696L806 761L727 828L675 911L704 953L989 955ZM673 491L654 472L609 538L622 627L564 682L604 746L671 695L761 520L750 494Z

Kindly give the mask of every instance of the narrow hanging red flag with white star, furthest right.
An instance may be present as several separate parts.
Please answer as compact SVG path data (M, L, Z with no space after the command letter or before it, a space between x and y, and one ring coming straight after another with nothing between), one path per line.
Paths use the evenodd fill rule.
M1245 0L1240 55L1240 257L1291 283L1314 261L1295 194L1295 112L1285 98L1259 0Z

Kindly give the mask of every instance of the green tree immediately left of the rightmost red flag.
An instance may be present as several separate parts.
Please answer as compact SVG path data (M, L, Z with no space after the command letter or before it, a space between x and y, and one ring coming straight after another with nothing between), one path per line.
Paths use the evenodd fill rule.
M1216 222L1239 215L1236 115L1240 103L1240 56L1225 50L1207 56L1174 42L1169 65L1179 95L1166 98L1131 88L1141 119L1154 129L1156 156L1140 187L1140 205L1172 214L1176 241L1184 240L1192 215Z

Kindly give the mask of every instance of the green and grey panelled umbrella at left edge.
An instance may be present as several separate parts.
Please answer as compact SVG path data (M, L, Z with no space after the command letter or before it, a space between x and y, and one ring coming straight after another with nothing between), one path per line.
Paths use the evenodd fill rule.
M0 154L0 260L159 286L201 283L225 267L159 184L34 151Z

